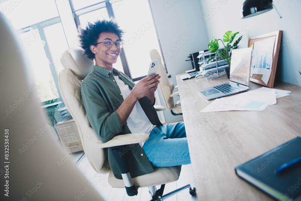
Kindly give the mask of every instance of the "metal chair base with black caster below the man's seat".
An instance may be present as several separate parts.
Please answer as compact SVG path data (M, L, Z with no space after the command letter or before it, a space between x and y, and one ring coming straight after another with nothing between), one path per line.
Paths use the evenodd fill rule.
M149 192L151 193L152 199L151 201L161 201L161 200L165 200L171 196L174 196L175 194L181 192L182 190L189 188L189 194L191 196L195 196L196 192L195 192L195 188L191 188L190 184L187 184L186 186L183 186L181 188L178 188L176 190L173 190L169 193L166 193L165 195L163 195L163 190L164 190L165 184L161 185L160 189L157 190L156 186L151 186L148 187Z

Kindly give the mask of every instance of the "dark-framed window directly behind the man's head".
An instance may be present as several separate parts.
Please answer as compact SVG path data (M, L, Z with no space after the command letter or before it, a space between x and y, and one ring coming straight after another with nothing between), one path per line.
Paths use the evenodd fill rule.
M152 49L160 50L148 1L106 0L92 3L95 3L95 0L90 0L89 6L87 2L70 0L76 24L79 26L87 21L115 18L126 33L119 60L114 64L114 68L124 72L133 81L146 77L151 61L149 52Z

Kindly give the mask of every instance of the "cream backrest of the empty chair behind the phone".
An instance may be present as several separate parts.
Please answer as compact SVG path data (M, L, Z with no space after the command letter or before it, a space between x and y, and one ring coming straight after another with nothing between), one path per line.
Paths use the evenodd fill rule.
M172 81L170 81L168 79L168 76L167 76L165 68L162 64L161 56L160 56L159 52L156 49L152 49L150 52L150 55L151 55L151 60L159 60L160 61L157 73L159 75L161 75L161 78L160 78L160 83L158 86L161 91L165 107L168 111L170 111L174 107L173 98L170 97L170 95L172 94L172 92L175 88L175 85L172 83Z

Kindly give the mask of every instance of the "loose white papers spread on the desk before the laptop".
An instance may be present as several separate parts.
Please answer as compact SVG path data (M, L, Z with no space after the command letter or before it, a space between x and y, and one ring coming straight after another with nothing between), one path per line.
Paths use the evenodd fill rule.
M256 90L240 93L231 97L214 100L200 112L216 111L263 111L268 105L276 104L276 97L288 96L290 91L262 87Z

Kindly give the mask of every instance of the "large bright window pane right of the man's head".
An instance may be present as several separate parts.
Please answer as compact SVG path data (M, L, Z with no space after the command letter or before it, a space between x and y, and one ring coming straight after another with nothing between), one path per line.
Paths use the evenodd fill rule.
M144 77L151 62L150 51L160 50L148 2L124 0L112 7L119 26L126 31L123 49L131 77Z

